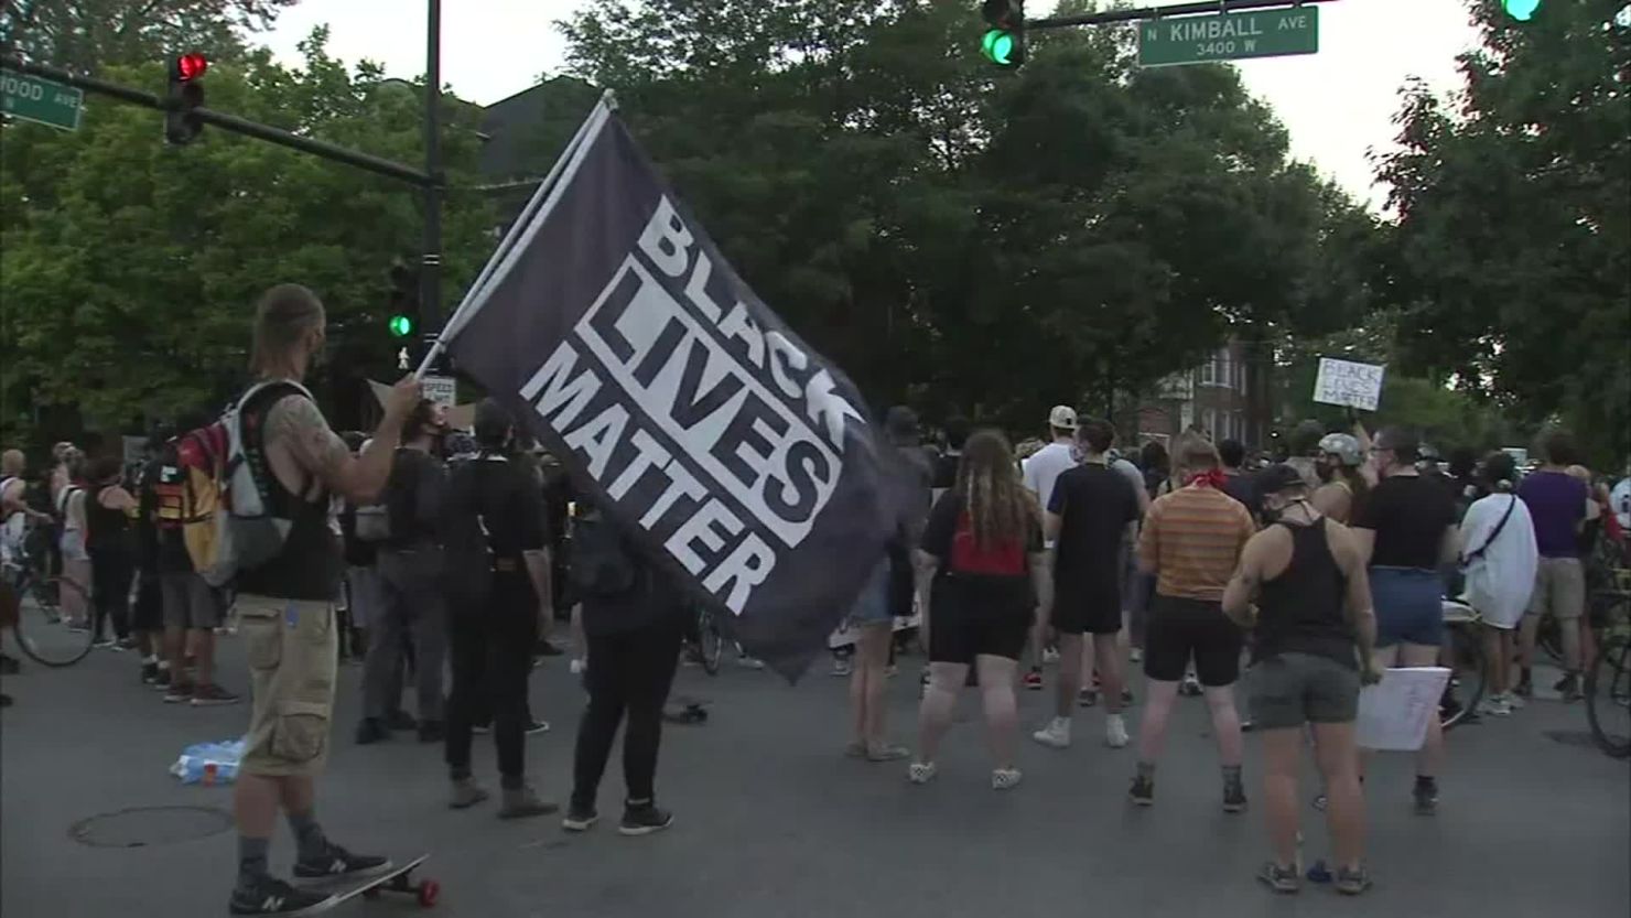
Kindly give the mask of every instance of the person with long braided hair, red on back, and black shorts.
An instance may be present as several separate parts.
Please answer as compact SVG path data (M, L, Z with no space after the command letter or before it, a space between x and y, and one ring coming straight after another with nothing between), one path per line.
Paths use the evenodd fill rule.
M992 788L1019 783L1014 673L1031 616L1049 587L1041 520L1008 440L995 430L969 437L957 484L935 502L918 551L926 571L922 582L928 584L920 600L930 623L930 686L908 771L915 784L935 778L935 753L970 665L979 670L997 758Z

